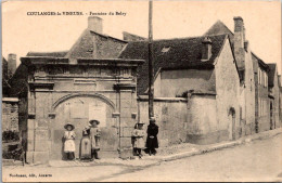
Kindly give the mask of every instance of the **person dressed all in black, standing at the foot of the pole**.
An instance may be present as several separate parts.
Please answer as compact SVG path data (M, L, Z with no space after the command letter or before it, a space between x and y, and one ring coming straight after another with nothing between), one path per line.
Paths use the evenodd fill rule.
M146 152L151 156L152 154L156 154L156 149L158 148L158 142L157 142L157 133L158 133L158 126L156 125L155 118L150 119L150 125L146 129Z

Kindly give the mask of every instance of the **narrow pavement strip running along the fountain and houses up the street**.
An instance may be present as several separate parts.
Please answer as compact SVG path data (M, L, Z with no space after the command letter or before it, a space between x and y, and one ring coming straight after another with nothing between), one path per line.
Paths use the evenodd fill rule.
M275 136L282 133L282 128L265 131L260 133L255 133L252 135L243 136L236 141L226 141L210 145L196 145L190 143L182 143L177 145L171 145L168 147L158 148L158 153L155 156L149 156L144 154L142 159L120 159L120 158L105 158L93 160L89 162L84 162L80 160L75 161L64 161L64 160L50 160L48 165L25 165L26 167L33 166L48 166L55 168L64 167L93 167L93 166L125 166L125 167L136 167L145 168L151 166L159 165L162 161L171 161L176 159L181 159L190 156L201 155L222 148L228 148L244 143L249 143L256 140L264 140L271 136Z

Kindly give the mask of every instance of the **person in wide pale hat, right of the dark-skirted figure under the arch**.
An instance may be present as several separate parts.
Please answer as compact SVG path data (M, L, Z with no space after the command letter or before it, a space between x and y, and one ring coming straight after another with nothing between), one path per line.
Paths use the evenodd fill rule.
M87 127L85 130L90 136L91 141L91 157L92 159L100 159L98 152L100 151L100 138L101 138L101 130L98 127L100 123L99 120L90 120L89 127Z

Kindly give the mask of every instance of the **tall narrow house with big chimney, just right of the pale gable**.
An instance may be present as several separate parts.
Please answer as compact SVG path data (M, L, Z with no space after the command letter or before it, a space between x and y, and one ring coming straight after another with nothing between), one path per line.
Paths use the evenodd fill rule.
M252 52L245 31L244 21L239 16L234 17L234 32L222 22L218 21L205 35L228 34L230 36L232 50L241 75L239 101L243 110L242 122L246 123L245 134L252 134L267 129L269 117L267 109L262 109L261 106L264 105L266 108L266 105L268 105L268 87L266 87L266 81L264 81L268 78L268 73L266 73L268 66Z

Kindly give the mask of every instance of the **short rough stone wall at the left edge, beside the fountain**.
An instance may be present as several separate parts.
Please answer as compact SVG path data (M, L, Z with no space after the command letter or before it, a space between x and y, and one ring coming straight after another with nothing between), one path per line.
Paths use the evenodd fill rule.
M2 132L18 132L18 100L14 97L2 99Z

